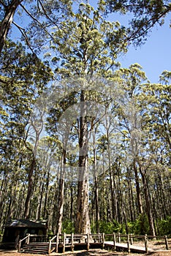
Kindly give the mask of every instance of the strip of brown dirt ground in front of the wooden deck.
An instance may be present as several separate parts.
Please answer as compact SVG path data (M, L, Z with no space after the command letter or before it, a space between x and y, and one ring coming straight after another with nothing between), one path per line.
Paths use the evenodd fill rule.
M0 251L0 256L36 256L33 254L29 253L21 253L21 252L16 252L16 251ZM148 253L148 254L133 254L133 253L126 253L126 252L112 252L112 251L107 251L107 250L102 250L102 249L92 249L90 251L77 251L77 252L65 252L65 253L55 253L53 252L51 254L52 256L146 256L146 255L151 255L151 256L171 256L171 250L168 251L161 251L161 252L153 252L153 253ZM45 256L45 255L37 255L37 256Z

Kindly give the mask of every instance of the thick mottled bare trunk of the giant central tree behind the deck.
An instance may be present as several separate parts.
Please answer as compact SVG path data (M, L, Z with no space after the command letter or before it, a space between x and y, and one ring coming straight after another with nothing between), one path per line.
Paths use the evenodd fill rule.
M77 184L77 219L75 233L90 233L90 218L88 211L88 124L86 95L80 94L80 129L79 129L79 173Z

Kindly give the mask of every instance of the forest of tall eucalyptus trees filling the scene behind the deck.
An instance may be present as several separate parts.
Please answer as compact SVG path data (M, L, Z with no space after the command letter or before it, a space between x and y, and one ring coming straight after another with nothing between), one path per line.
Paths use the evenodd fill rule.
M47 219L49 233L169 235L171 71L151 83L118 56L170 1L0 5L0 232ZM130 12L128 27L107 19Z

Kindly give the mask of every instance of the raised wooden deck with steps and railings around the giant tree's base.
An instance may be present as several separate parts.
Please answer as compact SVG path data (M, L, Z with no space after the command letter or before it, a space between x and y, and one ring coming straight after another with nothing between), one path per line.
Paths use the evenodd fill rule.
M66 250L74 251L77 249L93 249L93 248L107 248L112 247L115 251L126 251L126 252L135 252L135 253L148 253L156 252L156 248L153 249L148 244L148 239L153 239L150 236L136 236L132 234L123 235L123 234L56 234L47 242L37 242L39 236L30 235L26 236L19 241L18 251L21 249L21 242L25 241L23 249L25 252L44 252L44 254L50 255L51 252L65 252ZM134 244L134 238L136 241L140 239L142 246ZM155 237L156 238L156 237ZM162 237L165 241L166 249L169 249L167 236ZM163 241L163 243L164 243ZM143 246L144 244L144 246Z

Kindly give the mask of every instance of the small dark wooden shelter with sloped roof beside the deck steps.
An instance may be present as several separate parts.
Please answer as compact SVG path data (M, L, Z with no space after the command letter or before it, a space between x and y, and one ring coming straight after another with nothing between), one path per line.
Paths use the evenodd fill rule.
M26 237L26 234L44 235L47 234L46 220L15 219L9 220L4 225L4 236L2 242L15 242L18 238Z

